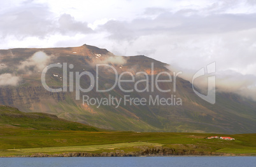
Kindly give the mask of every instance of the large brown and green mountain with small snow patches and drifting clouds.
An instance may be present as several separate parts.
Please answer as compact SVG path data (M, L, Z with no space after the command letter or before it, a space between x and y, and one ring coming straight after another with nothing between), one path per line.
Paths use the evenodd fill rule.
M166 63L143 55L118 57L108 50L84 44L73 48L0 50L0 63L0 104L17 107L23 112L46 112L69 121L108 130L256 133L256 102L234 93L217 91L216 103L209 104L197 97L189 81L176 77L174 83L173 72L166 68ZM47 91L41 83L43 69L52 63L62 67L49 66L45 82L50 88L61 88L62 91L59 92ZM63 72L65 63L67 70ZM102 65L98 71L97 64ZM103 64L111 65L113 69ZM99 90L108 90L116 81L114 69L122 80L131 80L132 74L134 82L120 83L120 86L117 84L111 91L99 93L96 90L96 80L99 81ZM94 79L88 73L79 76L82 72L90 72ZM123 72L126 74L122 74ZM160 89L171 89L170 92L157 89L155 79L160 72L172 75L173 82L158 84ZM67 82L64 82L65 77ZM168 78L164 73L159 77ZM148 82L142 82L142 79L148 79ZM141 82L136 88L144 90L148 86L148 90L135 91L137 81ZM92 90L76 91L78 83L81 90L90 87ZM63 91L65 84L68 91ZM124 92L122 89L133 91ZM83 96L85 100L88 98L89 103L85 102L83 105ZM80 100L76 100L78 97ZM128 98L126 104L125 97ZM136 105L138 102L131 98L145 98L146 103ZM168 103L173 104L159 104L161 98L169 99ZM97 99L108 99L109 103L97 107ZM115 99L122 101L118 107L110 104ZM92 105L94 102L95 105Z

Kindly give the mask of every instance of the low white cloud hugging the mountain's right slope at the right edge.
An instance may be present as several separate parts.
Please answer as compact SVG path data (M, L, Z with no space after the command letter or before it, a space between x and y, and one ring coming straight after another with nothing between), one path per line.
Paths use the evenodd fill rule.
M179 77L190 81L190 83L192 83L192 78L197 72L197 70L184 69L175 65L168 65L167 69L172 72L182 72ZM241 74L234 70L217 70L214 74L206 73L206 75L195 79L194 86L206 91L208 89L208 77L213 75L216 76L218 92L236 93L256 101L256 76L252 74Z

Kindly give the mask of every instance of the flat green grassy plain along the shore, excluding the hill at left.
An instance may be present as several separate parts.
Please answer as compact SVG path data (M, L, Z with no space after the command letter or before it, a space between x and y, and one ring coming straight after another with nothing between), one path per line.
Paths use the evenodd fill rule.
M256 156L255 134L229 135L236 140L205 139L217 134L57 131L1 127L0 156L34 153L138 151L138 146ZM218 135L220 136L220 135Z

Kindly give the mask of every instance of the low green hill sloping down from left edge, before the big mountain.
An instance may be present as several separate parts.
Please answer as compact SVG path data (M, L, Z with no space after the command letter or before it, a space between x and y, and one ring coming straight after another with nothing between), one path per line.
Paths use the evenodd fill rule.
M52 114L40 112L25 113L15 107L5 105L0 105L0 126L32 128L35 130L100 131L92 126L66 121Z

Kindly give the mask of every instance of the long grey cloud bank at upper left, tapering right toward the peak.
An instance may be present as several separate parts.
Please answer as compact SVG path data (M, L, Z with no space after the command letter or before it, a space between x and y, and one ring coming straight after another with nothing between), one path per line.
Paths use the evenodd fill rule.
M0 37L6 39L8 36L15 36L22 41L26 37L45 39L54 34L88 34L92 29L87 24L66 13L55 16L46 4L25 4L1 13Z

